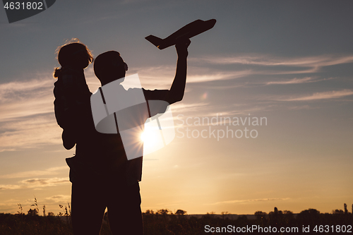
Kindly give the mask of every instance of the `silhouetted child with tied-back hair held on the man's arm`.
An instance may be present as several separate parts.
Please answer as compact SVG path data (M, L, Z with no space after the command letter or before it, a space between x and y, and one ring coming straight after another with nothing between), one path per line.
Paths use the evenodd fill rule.
M80 105L89 104L90 90L85 81L83 69L93 57L84 44L73 39L59 48L58 61L61 68L55 68L54 108L56 121L63 128L62 140L66 149L76 144L76 123Z

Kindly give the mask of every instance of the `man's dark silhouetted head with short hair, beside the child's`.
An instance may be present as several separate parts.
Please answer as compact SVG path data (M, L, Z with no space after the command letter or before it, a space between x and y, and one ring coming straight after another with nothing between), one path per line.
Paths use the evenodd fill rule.
M105 85L116 79L124 78L128 66L119 52L109 51L97 56L94 61L94 70L100 83Z

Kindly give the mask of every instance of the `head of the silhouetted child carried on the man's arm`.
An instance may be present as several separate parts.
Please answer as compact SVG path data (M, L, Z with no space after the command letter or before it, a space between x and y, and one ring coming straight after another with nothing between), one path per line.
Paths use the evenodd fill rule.
M59 47L58 61L61 67L86 68L92 60L90 50L78 39L73 39Z

